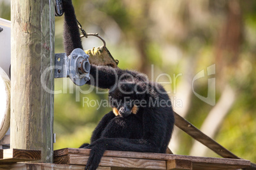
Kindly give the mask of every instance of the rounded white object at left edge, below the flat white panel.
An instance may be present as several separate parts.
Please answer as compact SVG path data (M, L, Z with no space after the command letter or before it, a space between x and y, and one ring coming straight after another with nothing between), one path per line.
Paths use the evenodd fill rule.
M0 67L0 140L10 128L11 81Z

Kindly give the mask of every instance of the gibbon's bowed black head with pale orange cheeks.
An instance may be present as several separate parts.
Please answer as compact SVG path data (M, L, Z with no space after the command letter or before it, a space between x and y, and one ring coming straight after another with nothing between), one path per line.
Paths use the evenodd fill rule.
M114 114L127 117L137 114L139 101L145 98L145 92L141 84L121 82L110 89L109 98Z

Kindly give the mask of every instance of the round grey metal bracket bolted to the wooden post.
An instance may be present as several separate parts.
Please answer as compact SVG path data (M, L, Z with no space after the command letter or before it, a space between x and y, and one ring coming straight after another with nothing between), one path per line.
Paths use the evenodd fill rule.
M83 49L76 48L67 57L66 53L55 54L55 78L69 77L78 86L90 80L89 55Z

